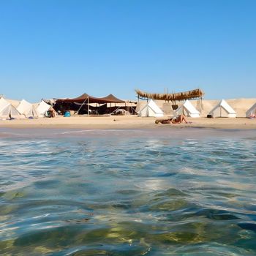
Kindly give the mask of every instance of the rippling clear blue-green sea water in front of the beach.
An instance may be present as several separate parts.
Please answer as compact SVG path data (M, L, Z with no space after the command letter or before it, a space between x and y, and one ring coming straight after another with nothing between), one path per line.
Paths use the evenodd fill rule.
M0 255L256 255L256 131L0 136Z

